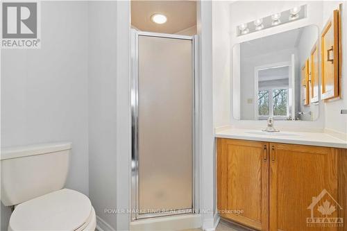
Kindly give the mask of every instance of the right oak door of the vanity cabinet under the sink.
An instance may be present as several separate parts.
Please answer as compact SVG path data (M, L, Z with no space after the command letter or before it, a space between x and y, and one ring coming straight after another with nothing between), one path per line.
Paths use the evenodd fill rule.
M270 230L337 230L307 220L338 217L337 148L270 143L270 159Z

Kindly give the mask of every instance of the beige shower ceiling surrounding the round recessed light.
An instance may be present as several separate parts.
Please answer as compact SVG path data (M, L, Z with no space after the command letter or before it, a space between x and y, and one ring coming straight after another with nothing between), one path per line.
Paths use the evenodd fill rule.
M164 24L155 24L151 16L167 16ZM131 1L131 24L140 31L177 33L196 26L196 1Z

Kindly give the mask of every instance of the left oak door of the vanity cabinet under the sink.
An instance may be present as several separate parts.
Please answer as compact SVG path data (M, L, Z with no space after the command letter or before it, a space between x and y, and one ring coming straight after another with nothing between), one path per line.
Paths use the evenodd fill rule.
M217 194L221 217L269 230L269 143L217 139Z

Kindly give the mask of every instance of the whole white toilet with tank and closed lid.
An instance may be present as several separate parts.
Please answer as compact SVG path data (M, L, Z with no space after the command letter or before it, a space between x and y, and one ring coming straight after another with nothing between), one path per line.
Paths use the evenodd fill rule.
M90 199L63 189L71 143L53 143L1 150L1 201L15 206L8 231L95 230Z

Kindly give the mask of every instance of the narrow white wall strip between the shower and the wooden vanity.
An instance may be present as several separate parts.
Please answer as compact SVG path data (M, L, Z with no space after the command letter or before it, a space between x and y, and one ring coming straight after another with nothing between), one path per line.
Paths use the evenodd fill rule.
M213 135L213 97L212 97L212 1L198 2L199 35L199 101L200 101L200 208L202 209L202 228L214 228L215 207L215 155Z

